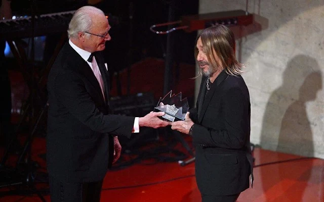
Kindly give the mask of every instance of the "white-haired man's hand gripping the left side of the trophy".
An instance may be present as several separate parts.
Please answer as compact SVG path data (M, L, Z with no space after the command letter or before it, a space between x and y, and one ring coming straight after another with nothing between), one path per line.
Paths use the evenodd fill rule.
M145 115L144 117L139 118L139 126L146 126L151 128L159 128L159 127L166 127L170 125L170 122L161 120L158 117L165 115L164 112L150 112L149 114Z

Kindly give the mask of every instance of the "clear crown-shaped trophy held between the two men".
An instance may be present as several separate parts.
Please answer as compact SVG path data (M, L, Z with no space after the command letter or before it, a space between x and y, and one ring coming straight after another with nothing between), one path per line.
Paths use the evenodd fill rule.
M183 121L189 110L187 97L182 99L182 93L172 94L172 90L163 98L160 97L154 112L165 112L163 119L168 121Z

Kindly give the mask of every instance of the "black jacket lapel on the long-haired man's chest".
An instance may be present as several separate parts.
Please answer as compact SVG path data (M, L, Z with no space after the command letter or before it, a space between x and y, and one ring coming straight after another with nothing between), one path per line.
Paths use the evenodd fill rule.
M215 94L215 92L219 89L220 87L220 84L223 83L224 80L226 80L226 78L228 77L229 75L225 72L225 70L223 70L218 76L217 78L215 79L213 85L211 85L211 88L208 92L208 94L205 96L205 92L206 92L206 85L203 84L203 90L204 91L204 94L200 94L200 100L202 98L203 100L203 104L201 104L201 110L200 110L200 113L198 114L198 121L199 123L201 123L201 121L203 120L203 117L206 113L206 110L207 110L207 107L209 106L209 103L211 102L212 100L212 97L213 95ZM205 83L207 81L207 78L205 79ZM204 99L205 97L205 99Z

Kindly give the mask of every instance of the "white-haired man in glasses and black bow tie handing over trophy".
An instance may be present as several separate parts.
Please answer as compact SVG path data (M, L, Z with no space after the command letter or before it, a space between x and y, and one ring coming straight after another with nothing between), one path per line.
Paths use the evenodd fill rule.
M110 40L104 13L78 9L48 77L47 169L51 201L100 201L107 169L120 156L118 135L141 126L165 127L164 113L127 117L109 113L109 74L101 51Z

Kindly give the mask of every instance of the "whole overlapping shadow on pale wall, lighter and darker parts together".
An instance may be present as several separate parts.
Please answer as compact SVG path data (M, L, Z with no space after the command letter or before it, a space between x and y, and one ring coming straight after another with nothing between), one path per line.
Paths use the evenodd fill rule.
M282 85L268 100L261 131L261 146L284 153L313 156L313 139L306 103L322 88L315 59L298 55L288 63Z

